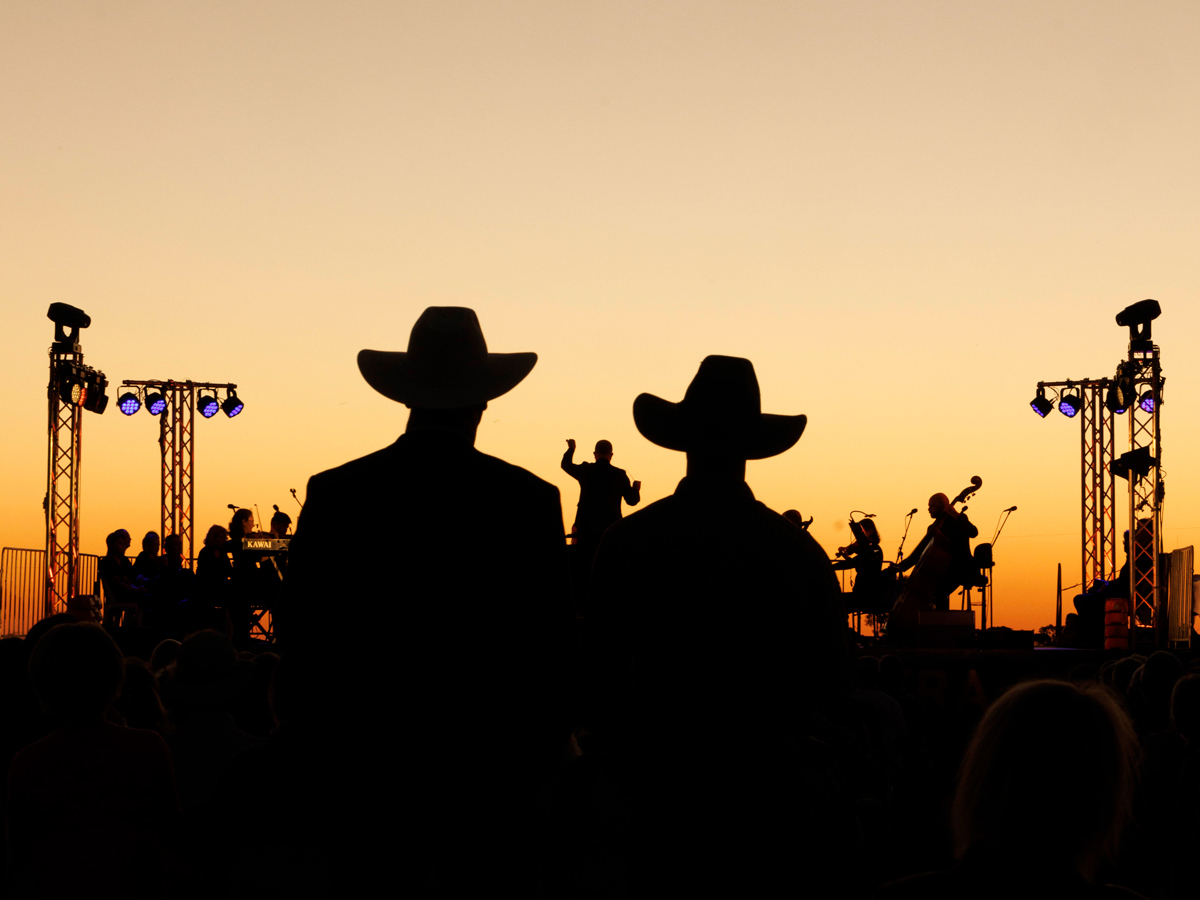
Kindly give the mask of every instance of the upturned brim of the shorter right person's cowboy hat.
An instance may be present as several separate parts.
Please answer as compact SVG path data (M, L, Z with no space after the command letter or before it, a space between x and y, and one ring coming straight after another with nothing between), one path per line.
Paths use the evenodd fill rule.
M736 425L715 419L697 422L682 403L641 394L634 401L634 424L642 437L667 450L703 449L743 460L766 460L794 446L809 418L760 413Z

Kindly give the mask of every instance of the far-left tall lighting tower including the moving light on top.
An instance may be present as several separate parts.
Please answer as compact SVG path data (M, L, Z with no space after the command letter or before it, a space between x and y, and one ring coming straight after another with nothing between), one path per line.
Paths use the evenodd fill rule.
M79 481L83 462L83 410L103 413L108 406L103 372L83 364L79 330L91 325L83 311L52 304L49 451L46 470L46 592L43 613L66 612L79 593ZM89 586L90 587L90 586Z

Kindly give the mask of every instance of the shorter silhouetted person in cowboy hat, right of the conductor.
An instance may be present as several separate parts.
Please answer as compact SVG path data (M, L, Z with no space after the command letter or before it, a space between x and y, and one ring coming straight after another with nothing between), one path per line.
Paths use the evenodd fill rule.
M820 835L788 742L850 689L846 617L826 552L745 482L746 460L791 448L806 419L763 414L751 362L708 356L682 402L642 394L634 421L688 455L674 494L610 527L593 569L595 727L641 773L647 840L672 834L646 862L692 880L679 895L816 883L797 869Z

